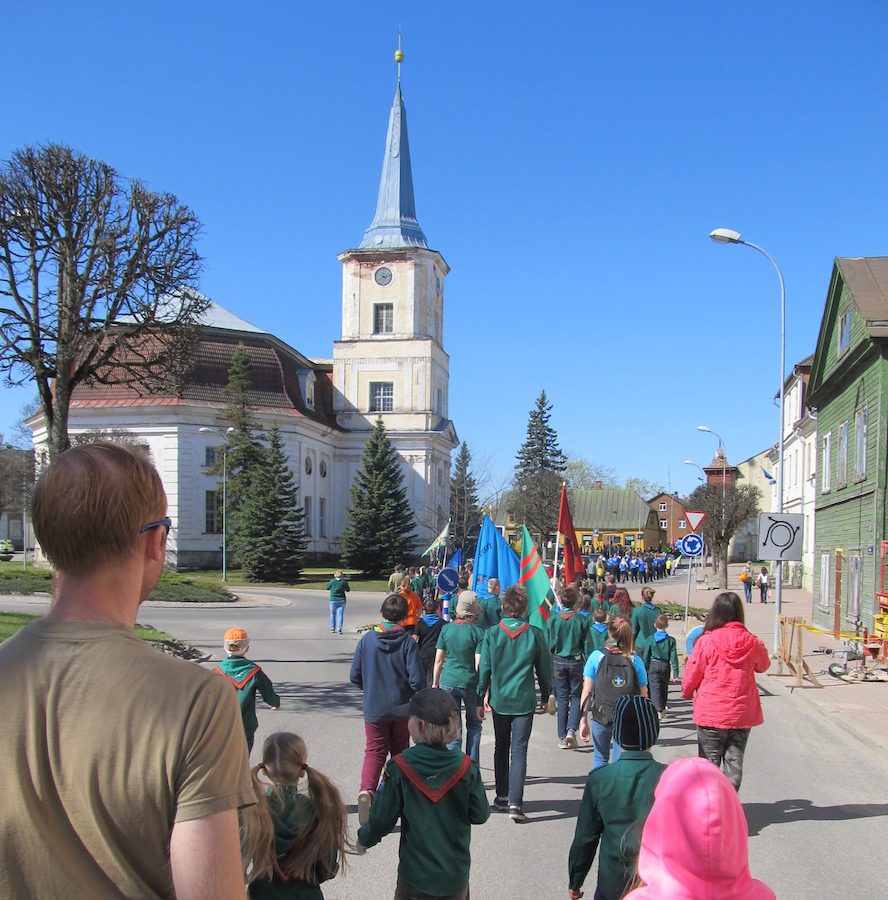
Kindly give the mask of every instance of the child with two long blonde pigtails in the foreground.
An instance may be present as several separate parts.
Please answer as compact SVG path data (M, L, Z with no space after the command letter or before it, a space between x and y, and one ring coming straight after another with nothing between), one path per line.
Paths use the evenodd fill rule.
M243 846L252 898L323 900L321 883L344 868L345 854L353 849L339 790L309 767L307 758L299 735L277 732L266 739L262 762L253 767L259 802L253 821L246 823ZM303 779L305 793L299 790Z

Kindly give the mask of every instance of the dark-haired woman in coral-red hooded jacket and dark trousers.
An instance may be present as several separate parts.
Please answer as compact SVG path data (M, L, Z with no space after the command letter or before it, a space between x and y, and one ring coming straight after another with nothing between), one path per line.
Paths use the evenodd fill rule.
M743 601L719 594L685 667L681 693L694 698L700 756L720 766L739 789L749 731L761 725L755 673L771 664L764 643L746 630Z

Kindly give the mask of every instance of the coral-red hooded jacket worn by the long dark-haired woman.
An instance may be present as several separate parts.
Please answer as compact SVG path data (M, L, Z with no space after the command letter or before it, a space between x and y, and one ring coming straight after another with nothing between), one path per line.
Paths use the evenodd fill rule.
M681 694L694 697L694 722L702 728L761 725L755 673L771 665L768 648L740 622L728 622L697 638L681 679Z

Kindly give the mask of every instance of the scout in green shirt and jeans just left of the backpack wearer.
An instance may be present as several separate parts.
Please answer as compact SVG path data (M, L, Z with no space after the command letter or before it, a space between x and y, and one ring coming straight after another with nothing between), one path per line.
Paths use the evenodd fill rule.
M568 585L561 591L561 609L549 617L549 649L558 701L558 746L576 750L580 727L580 691L589 623L577 610L577 589Z

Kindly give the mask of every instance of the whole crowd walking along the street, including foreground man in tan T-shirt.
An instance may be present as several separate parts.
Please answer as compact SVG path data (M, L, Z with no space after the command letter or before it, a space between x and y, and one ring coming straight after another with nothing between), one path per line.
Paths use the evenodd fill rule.
M736 594L716 597L681 674L699 755L663 766L651 748L679 680L677 647L650 584L638 604L623 587L623 557L559 585L544 627L528 621L517 585L490 579L479 598L463 572L444 615L429 572L393 573L351 665L366 741L352 838L300 737L270 735L250 770L256 696L272 708L279 698L243 629L225 634L215 673L135 636L172 525L144 456L106 442L61 454L38 481L33 524L56 576L50 612L0 645L0 753L11 761L0 895L321 898L349 854L400 823L396 900L467 900L472 826L492 812L528 820L527 748L545 710L559 748L593 747L565 860L570 898L583 896L596 854L597 900L774 896L750 876L737 798L762 722L755 673L769 660ZM648 575L641 556L635 571ZM337 572L328 587L330 629L342 633L348 581ZM488 718L492 797L479 768Z

